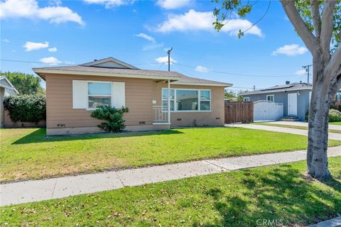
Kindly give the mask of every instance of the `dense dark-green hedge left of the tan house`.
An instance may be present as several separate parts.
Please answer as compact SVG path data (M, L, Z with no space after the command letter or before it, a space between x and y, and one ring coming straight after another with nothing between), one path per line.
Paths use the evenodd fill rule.
M46 100L41 94L6 96L4 108L9 111L9 117L14 122L38 123L46 119Z

